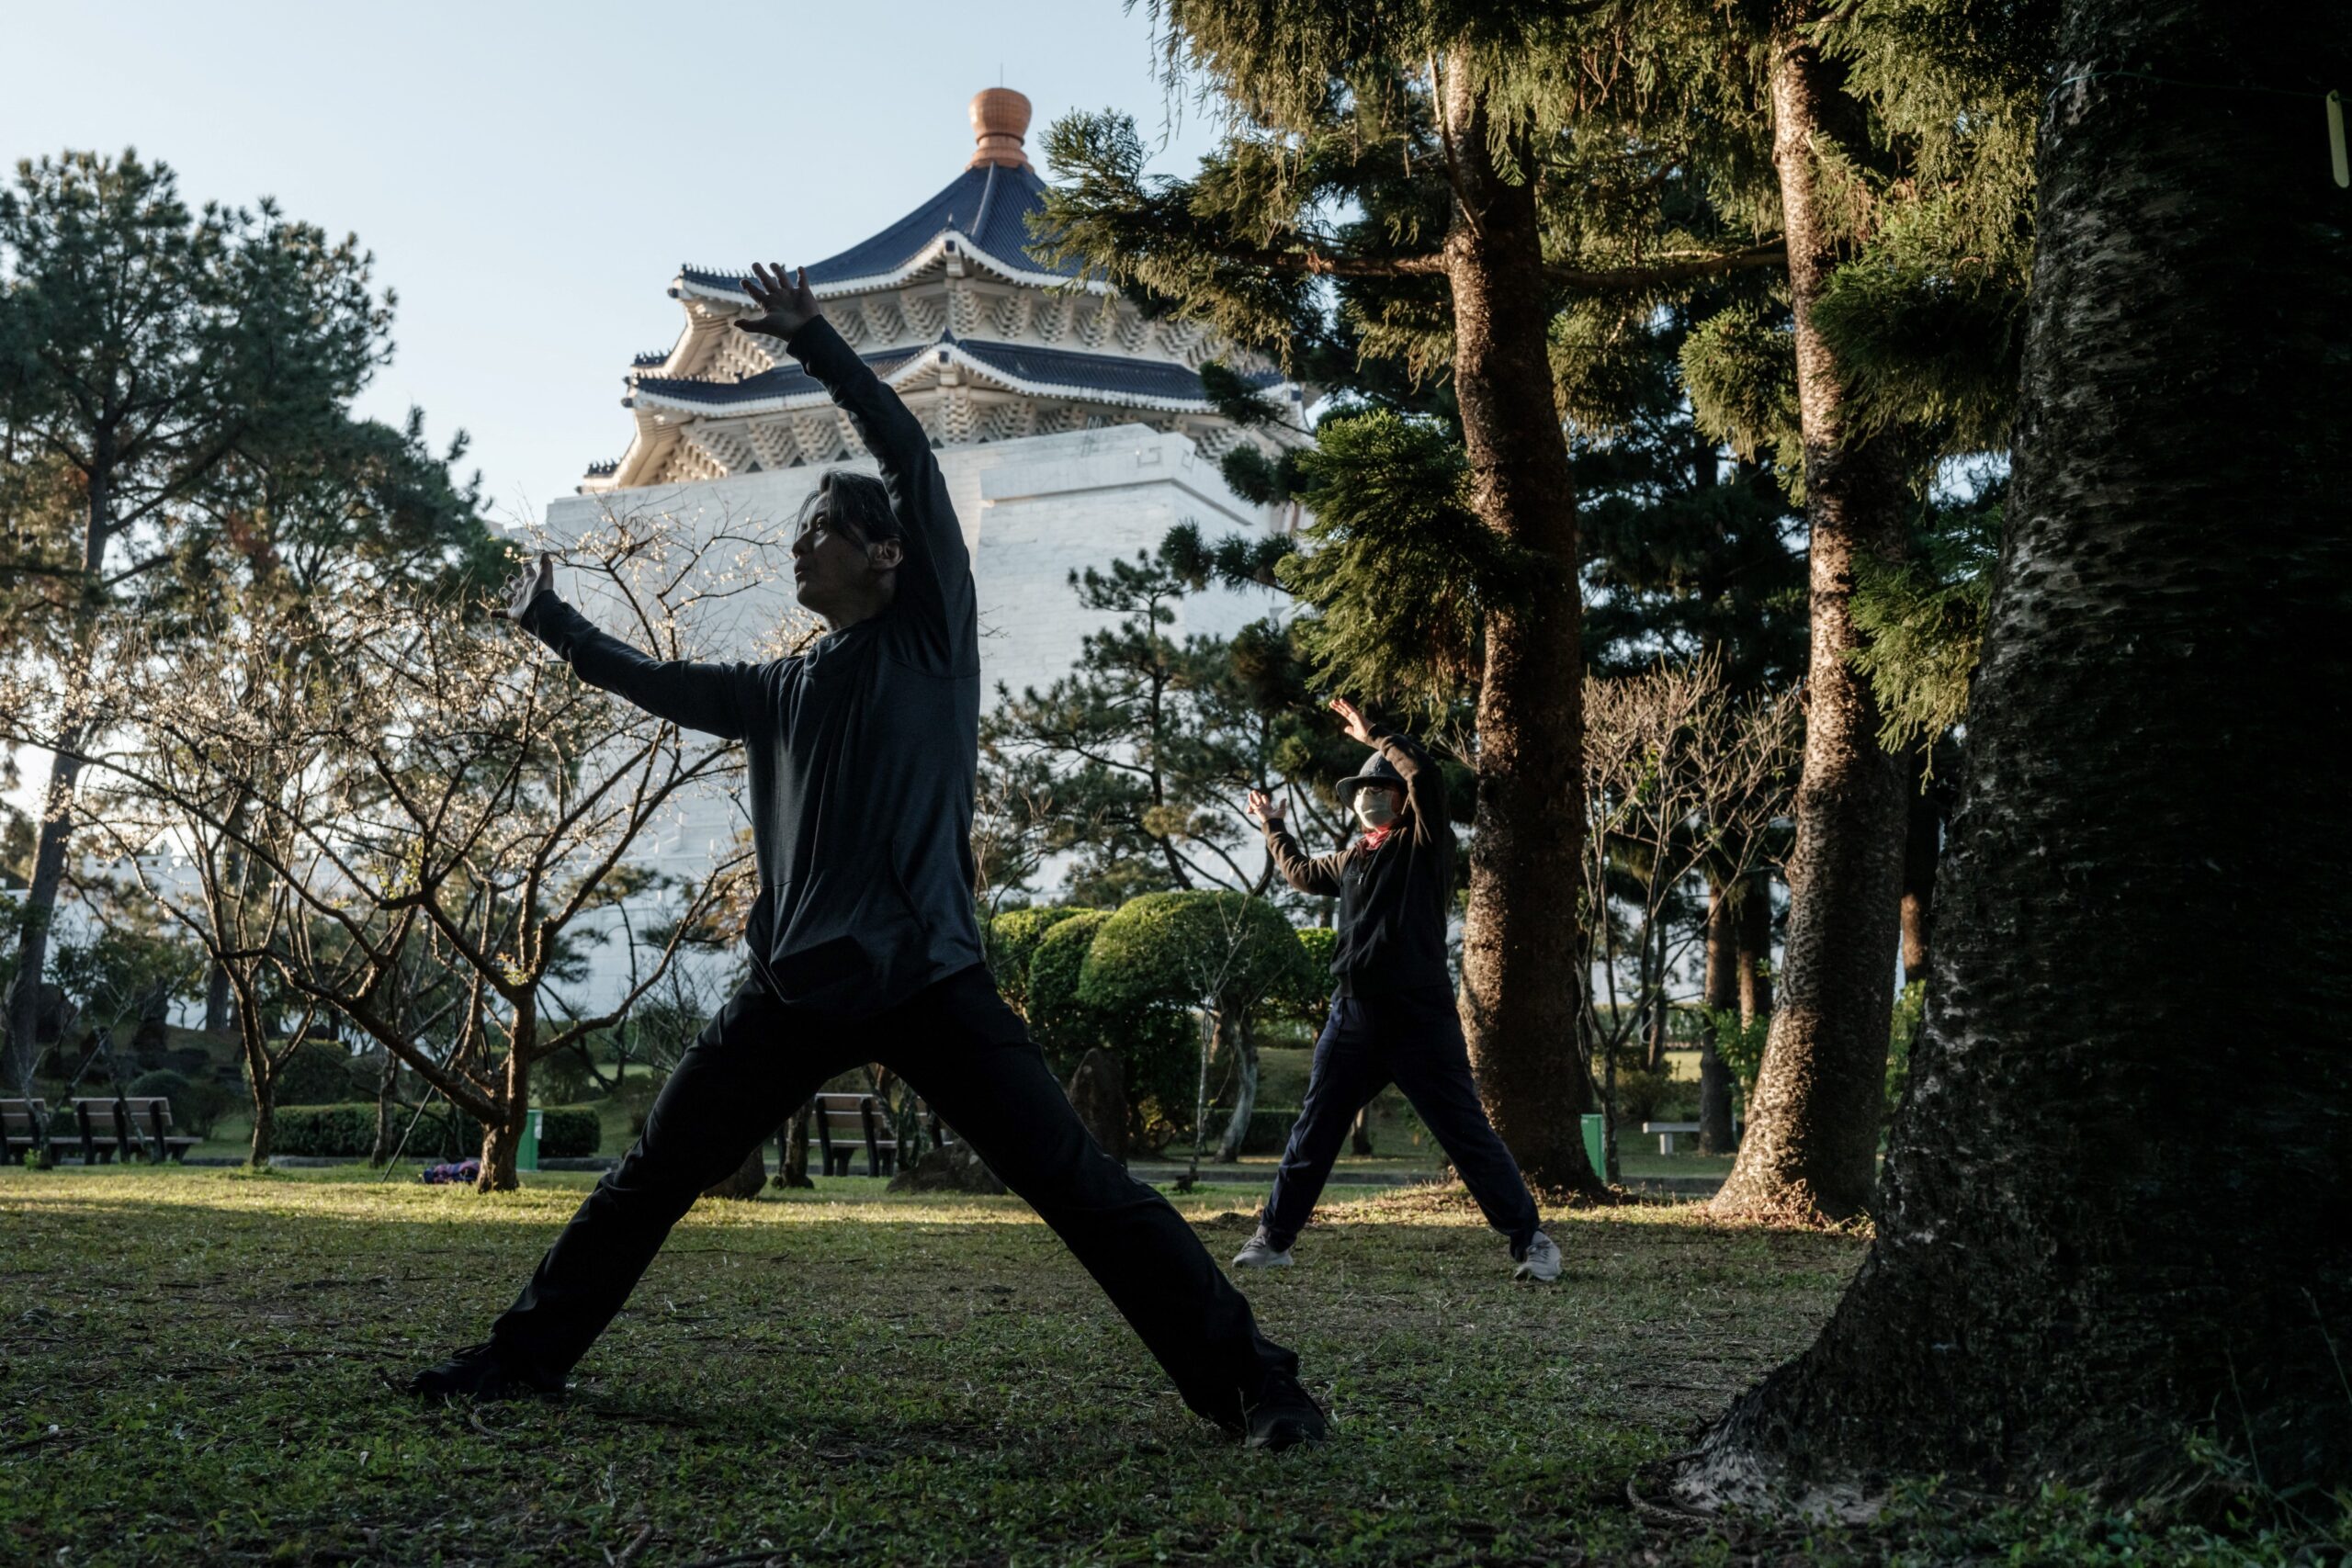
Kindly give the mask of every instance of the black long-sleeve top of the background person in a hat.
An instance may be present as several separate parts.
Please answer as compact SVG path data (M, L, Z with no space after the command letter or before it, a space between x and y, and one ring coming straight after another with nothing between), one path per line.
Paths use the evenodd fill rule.
M1331 973L1341 997L1383 997L1451 987L1446 910L1454 907L1454 825L1446 776L1406 736L1376 733L1374 748L1404 776L1411 816L1364 849L1355 839L1334 856L1308 856L1279 820L1265 825L1265 849L1282 879L1301 893L1338 896Z

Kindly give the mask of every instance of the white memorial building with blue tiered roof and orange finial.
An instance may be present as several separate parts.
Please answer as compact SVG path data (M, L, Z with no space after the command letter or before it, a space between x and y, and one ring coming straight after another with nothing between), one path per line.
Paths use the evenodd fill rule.
M1207 538L1284 527L1282 508L1225 487L1218 458L1237 442L1270 449L1303 437L1223 418L1202 390L1202 364L1223 360L1305 423L1303 388L1268 364L1030 254L1044 181L1023 150L1028 122L1018 92L981 92L971 162L882 233L807 266L826 317L931 433L971 550L983 705L1000 684L1042 689L1065 675L1082 637L1108 621L1077 607L1073 569L1152 550L1178 522ZM548 508L553 536L626 512L689 531L781 522L826 470L873 473L849 421L783 346L734 329L753 313L739 282L748 263L680 268L677 341L637 355L626 376L628 447ZM769 592L783 595L790 576L779 571L776 583ZM779 597L776 616L743 609L746 625L774 625L786 604ZM1216 590L1190 597L1169 630L1223 635L1268 609L1270 595ZM680 875L708 865L736 827L720 806L689 806L644 858Z

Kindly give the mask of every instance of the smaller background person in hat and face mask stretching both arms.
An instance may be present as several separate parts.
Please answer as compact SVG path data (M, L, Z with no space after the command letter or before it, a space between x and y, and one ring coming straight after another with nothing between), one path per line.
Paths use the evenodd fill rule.
M1374 748L1364 766L1338 780L1338 797L1364 832L1334 856L1308 856L1263 790L1247 811L1265 827L1265 849L1301 893L1338 898L1331 950L1336 994L1305 1105L1291 1128L1258 1234L1235 1267L1289 1267L1291 1241L1322 1197L1338 1145L1355 1114L1388 1084L1414 1103L1486 1222L1510 1237L1517 1279L1559 1279L1559 1246L1543 1234L1536 1199L1519 1164L1496 1138L1470 1077L1454 980L1446 973L1446 910L1454 905L1454 827L1446 780L1409 736L1376 731L1364 712L1334 698L1352 741Z

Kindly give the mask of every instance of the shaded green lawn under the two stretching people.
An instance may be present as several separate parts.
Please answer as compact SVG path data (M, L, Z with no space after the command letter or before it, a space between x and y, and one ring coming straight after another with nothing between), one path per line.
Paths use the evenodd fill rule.
M1301 1267L1242 1281L1338 1439L1251 1455L1183 1410L1021 1204L847 1180L696 1206L562 1403L397 1394L482 1338L588 1180L480 1197L365 1171L0 1171L0 1561L1722 1563L1893 1547L1884 1528L1693 1526L1625 1497L1813 1335L1856 1237L1576 1211L1555 1220L1569 1274L1534 1288L1458 1190L1341 1194ZM1176 1201L1228 1255L1258 1197ZM2051 1549L2011 1561L2082 1561L2072 1544L2110 1526L2058 1500L1905 1528L1931 1528L1938 1561L2013 1535ZM2143 1556L2216 1561L2192 1544Z

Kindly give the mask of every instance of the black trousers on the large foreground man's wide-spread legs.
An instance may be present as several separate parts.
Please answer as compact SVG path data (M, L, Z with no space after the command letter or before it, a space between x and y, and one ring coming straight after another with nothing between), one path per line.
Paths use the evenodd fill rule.
M557 1382L703 1187L736 1171L826 1079L858 1063L898 1072L1030 1201L1197 1413L1235 1425L1268 1371L1296 1371L1298 1356L1258 1333L1249 1300L1183 1215L1094 1143L978 966L847 1025L788 1009L755 985L739 990L663 1084L644 1135L595 1185L492 1328L499 1354Z

